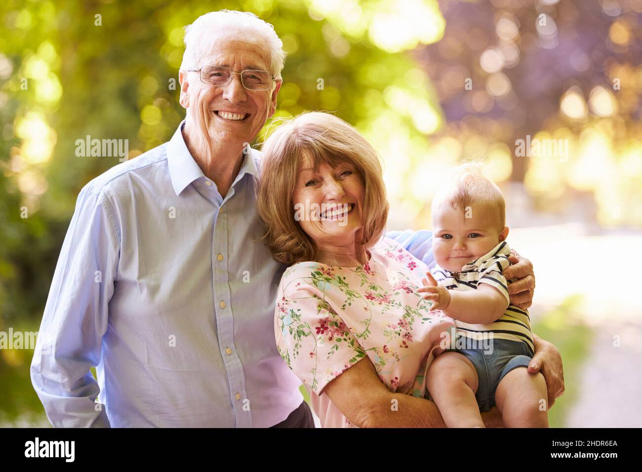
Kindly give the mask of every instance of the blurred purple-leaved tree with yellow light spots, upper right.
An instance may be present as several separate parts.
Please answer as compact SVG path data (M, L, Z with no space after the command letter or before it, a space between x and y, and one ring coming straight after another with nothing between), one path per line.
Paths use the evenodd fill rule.
M642 225L630 205L642 201L642 1L439 4L444 39L415 57L448 123L438 135L460 143L450 149L524 182L547 211L594 200L587 223ZM569 155L516 155L527 135L568 139Z

